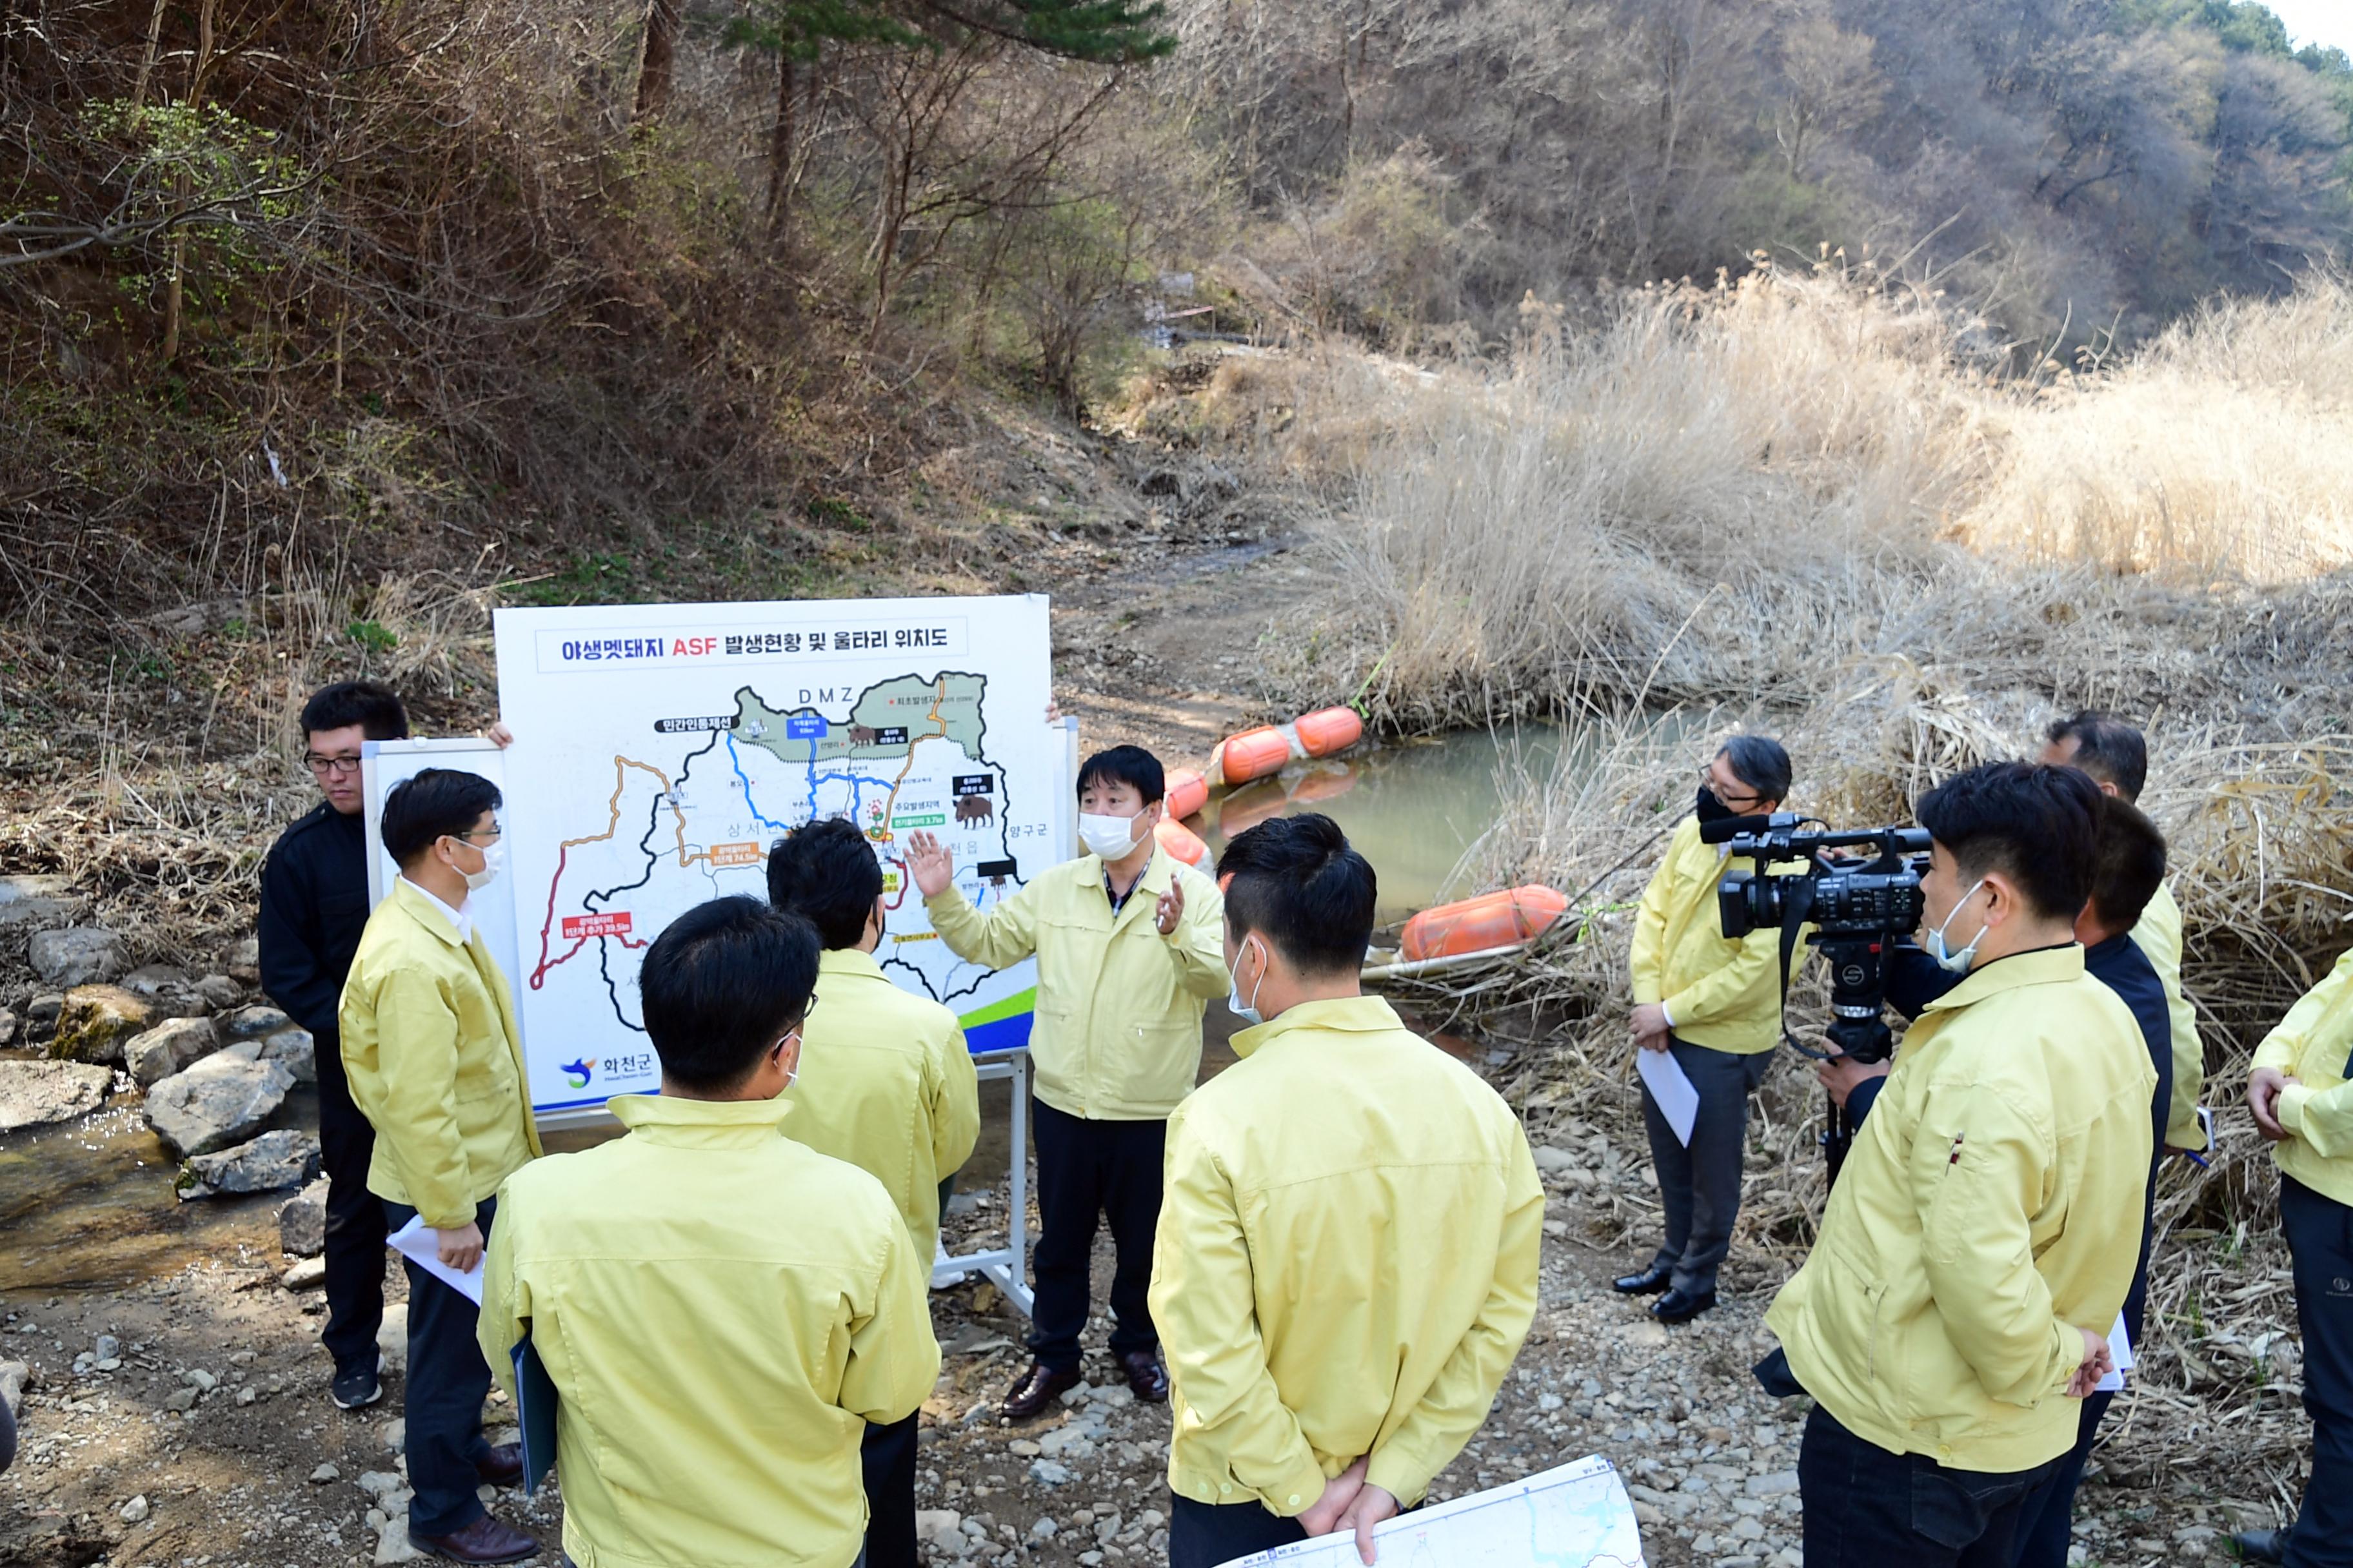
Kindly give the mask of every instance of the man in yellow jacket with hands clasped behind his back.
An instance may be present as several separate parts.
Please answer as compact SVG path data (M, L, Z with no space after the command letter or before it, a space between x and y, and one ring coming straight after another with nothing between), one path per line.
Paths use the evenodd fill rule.
M1332 1530L1369 1552L1487 1420L1544 1244L1520 1119L1358 992L1374 875L1339 825L1261 823L1217 872L1252 1027L1169 1119L1169 1568Z

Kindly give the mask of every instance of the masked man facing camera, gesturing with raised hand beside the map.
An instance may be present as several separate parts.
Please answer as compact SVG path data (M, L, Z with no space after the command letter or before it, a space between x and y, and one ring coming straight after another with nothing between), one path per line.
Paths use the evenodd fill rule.
M1160 759L1113 745L1078 771L1087 846L995 905L972 907L955 860L908 835L908 870L939 940L1005 969L1038 957L1038 1253L1031 1354L1002 1403L1009 1420L1049 1408L1080 1380L1096 1215L1111 1218L1111 1354L1136 1399L1167 1399L1148 1288L1160 1220L1167 1117L1200 1077L1200 1016L1226 994L1217 886L1158 849Z

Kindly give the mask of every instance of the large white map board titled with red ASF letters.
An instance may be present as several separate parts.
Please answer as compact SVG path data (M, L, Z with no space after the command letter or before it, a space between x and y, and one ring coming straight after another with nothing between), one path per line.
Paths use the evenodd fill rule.
M496 642L536 1110L654 1086L645 947L706 898L765 898L769 844L828 816L882 860L885 973L974 1051L1028 1039L1033 966L948 952L906 835L951 844L981 910L1066 858L1042 597L504 609Z

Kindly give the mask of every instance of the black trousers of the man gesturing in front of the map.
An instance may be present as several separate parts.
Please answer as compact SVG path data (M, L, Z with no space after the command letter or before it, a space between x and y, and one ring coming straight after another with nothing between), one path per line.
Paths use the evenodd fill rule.
M1111 1218L1111 1354L1160 1349L1153 1309L1153 1232L1160 1227L1160 1157L1167 1121L1089 1121L1031 1103L1038 1143L1038 1251L1031 1352L1056 1373L1078 1371L1087 1331L1094 1220Z

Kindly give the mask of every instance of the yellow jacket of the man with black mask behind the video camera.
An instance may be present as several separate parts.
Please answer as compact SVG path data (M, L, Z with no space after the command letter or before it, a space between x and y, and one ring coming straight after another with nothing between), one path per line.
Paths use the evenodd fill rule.
M1675 827L1633 917L1633 999L1664 1001L1680 1041L1755 1056L1781 1044L1781 931L1725 938L1715 886L1734 870L1751 863L1701 844L1699 818Z

